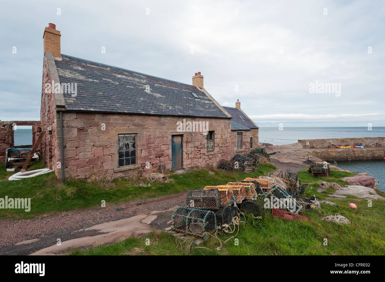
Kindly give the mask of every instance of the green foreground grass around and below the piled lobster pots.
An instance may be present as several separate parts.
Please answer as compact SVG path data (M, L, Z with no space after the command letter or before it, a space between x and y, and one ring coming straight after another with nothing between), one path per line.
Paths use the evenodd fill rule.
M338 177L350 176L347 172L332 171L331 177L313 178L307 170L299 172L301 183L311 185L305 190L307 197L315 194L325 199L325 193L318 193L318 180L345 184ZM313 188L311 188L313 186ZM261 204L263 199L260 199ZM312 221L286 221L271 216L269 209L263 209L262 219L246 216L240 223L239 233L223 244L218 251L219 241L210 238L198 247L193 240L182 241L161 231L153 230L144 237L129 237L122 242L98 246L91 249L75 249L70 255L383 255L385 252L385 210L382 200L368 202L355 197L333 199L336 206L321 204L321 209L303 212ZM355 203L358 209L348 207ZM326 223L322 216L339 213L352 225ZM236 233L236 232L235 232ZM235 234L234 233L234 234ZM222 242L234 234L219 234ZM146 246L146 239L150 244ZM236 245L235 240L239 244ZM327 239L327 245L324 245ZM203 247L203 248L201 248Z

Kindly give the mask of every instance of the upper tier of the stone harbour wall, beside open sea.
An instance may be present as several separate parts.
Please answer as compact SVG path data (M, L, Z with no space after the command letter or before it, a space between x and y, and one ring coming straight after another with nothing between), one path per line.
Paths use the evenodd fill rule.
M303 145L304 149L348 147L358 144L365 147L385 147L385 137L303 139L298 140L298 142Z

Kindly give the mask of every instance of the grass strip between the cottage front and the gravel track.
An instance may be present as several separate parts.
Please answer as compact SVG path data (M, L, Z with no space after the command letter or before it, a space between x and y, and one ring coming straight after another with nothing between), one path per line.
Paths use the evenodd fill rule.
M39 161L29 169L44 167ZM259 170L253 173L230 173L213 168L192 170L180 175L169 176L174 183L154 183L150 187L139 186L140 180L119 179L106 180L99 178L70 179L57 181L53 172L38 175L33 178L15 181L0 181L0 198L31 198L31 210L24 209L0 209L0 219L33 219L36 216L55 215L62 211L72 209L84 209L100 207L102 200L106 207L112 204L126 201L139 201L148 198L171 195L191 189L199 189L206 185L219 185L230 181L244 179L245 177L257 177L265 175L275 169L274 165L259 165ZM0 165L0 171L4 170L4 164ZM214 175L209 173L214 172ZM2 173L4 179L11 173ZM137 185L137 186L135 186Z

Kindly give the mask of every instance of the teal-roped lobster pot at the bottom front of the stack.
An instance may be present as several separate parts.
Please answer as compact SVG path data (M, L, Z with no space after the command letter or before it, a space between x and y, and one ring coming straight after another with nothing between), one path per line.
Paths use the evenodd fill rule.
M213 211L179 207L172 214L171 229L207 239L207 233L214 231L216 224Z

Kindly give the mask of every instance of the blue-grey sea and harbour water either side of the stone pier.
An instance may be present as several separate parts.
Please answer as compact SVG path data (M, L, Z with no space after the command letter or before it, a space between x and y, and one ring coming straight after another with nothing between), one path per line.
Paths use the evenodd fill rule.
M259 142L273 145L296 143L299 139L385 137L385 127L259 127ZM334 163L333 163L334 164ZM385 162L350 161L337 162L337 166L350 172L367 172L380 183L377 188L385 191Z

